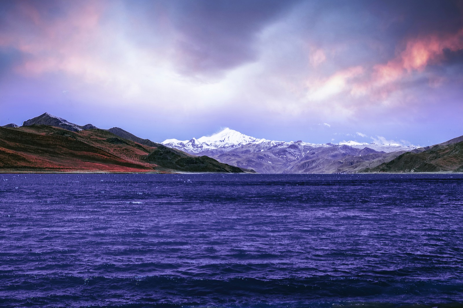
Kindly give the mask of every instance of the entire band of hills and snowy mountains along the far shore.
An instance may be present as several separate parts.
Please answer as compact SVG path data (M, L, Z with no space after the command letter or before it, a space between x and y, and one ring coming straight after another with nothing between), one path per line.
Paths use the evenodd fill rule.
M85 144L85 151L80 149ZM347 141L258 139L230 128L161 144L119 127L80 126L44 113L0 129L0 170L353 173L463 171L463 136L418 148ZM101 151L104 151L102 153ZM200 156L200 157L198 157Z

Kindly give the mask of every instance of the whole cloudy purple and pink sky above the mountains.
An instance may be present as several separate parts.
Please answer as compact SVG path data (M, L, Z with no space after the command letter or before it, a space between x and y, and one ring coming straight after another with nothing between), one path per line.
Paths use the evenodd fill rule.
M0 1L0 125L153 141L463 135L463 1Z

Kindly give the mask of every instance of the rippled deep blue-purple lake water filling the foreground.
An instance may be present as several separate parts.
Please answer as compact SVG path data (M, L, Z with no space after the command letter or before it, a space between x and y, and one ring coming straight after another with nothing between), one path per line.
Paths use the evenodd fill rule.
M0 175L0 200L1 307L463 305L463 175Z

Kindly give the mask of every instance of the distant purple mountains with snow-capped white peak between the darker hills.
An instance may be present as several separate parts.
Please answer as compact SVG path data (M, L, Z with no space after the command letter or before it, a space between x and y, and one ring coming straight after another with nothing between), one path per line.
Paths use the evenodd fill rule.
M358 172L418 148L413 145L377 145L355 141L339 144L275 141L247 136L230 128L210 137L167 139L162 144L259 173Z

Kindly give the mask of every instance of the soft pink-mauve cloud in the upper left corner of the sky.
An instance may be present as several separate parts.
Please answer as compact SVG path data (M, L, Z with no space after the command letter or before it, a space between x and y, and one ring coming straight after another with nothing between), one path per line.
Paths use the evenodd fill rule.
M23 75L67 70L69 59L85 57L100 35L98 25L104 3L85 1L66 2L65 13L59 17L47 15L47 7L21 1L8 15L12 30L1 32L0 46L23 52L25 61L15 68Z

